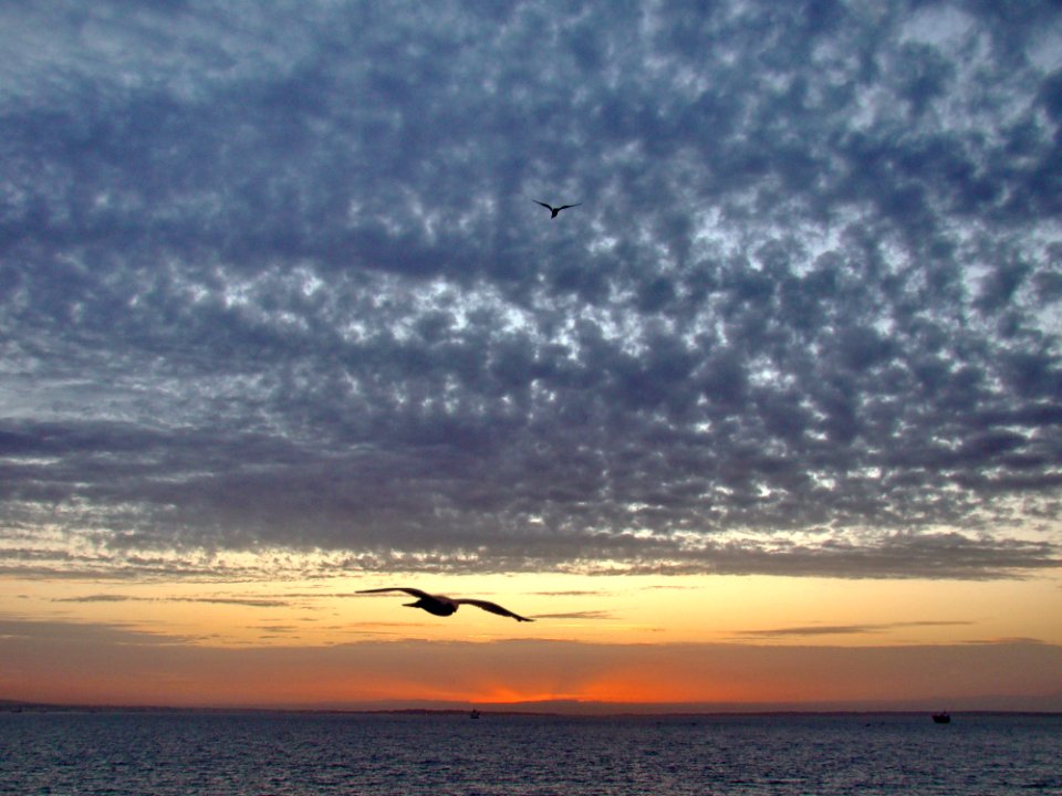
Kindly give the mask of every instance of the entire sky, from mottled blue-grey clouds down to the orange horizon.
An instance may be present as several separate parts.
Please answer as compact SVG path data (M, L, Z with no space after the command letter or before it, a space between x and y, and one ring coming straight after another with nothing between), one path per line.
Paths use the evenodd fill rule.
M0 129L0 699L1062 710L1058 2L7 2Z

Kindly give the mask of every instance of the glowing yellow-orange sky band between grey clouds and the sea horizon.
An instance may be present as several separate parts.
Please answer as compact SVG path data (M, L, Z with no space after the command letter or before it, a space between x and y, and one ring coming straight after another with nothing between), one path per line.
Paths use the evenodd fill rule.
M0 578L0 699L179 706L517 702L1062 710L1059 580L417 578L535 618L449 618L408 578Z

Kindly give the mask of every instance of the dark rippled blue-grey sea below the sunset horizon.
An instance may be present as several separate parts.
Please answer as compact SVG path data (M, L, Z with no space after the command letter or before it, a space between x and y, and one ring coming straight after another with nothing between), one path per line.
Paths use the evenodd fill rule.
M0 794L1062 794L1062 716L0 713Z

